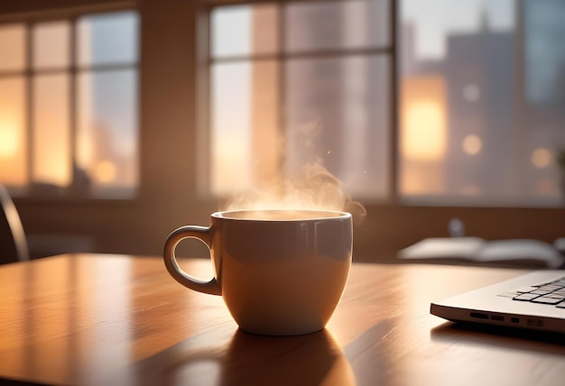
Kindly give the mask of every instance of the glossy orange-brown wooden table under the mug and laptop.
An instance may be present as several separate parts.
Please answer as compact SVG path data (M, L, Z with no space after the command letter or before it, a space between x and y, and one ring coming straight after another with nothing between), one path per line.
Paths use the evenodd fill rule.
M208 260L185 260L211 274ZM565 338L462 327L430 301L522 271L356 263L320 333L237 329L220 297L158 257L66 254L0 266L0 378L93 385L562 385Z

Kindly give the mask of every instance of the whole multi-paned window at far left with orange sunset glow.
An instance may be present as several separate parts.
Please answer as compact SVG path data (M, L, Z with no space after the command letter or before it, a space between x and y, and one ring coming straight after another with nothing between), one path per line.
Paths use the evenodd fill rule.
M16 196L131 198L138 16L0 25L0 182Z

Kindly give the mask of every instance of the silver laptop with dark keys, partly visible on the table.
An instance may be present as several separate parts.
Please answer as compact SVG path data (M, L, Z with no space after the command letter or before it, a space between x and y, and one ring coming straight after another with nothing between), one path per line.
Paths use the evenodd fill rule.
M455 322L565 333L565 270L532 271L433 301L430 312Z

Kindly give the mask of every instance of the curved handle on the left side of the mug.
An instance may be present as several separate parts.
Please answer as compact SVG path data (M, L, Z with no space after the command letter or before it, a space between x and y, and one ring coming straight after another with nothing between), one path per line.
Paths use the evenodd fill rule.
M206 281L199 280L193 276L190 276L187 272L182 271L179 263L177 262L177 257L174 253L177 245L181 243L182 240L187 238L198 239L202 243L206 244L206 246L208 246L208 249L210 249L210 235L210 227L197 225L181 226L180 228L172 231L172 233L167 236L162 256L165 262L165 267L167 267L169 274L174 280L177 280L183 286L199 292L208 293L210 295L221 295L222 291L216 278L212 278L211 280Z

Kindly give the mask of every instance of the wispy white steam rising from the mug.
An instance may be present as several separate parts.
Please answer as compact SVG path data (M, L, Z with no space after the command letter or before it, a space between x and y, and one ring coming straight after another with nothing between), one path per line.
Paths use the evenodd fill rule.
M344 184L323 166L323 158L316 152L321 120L313 112L309 115L307 124L287 133L286 152L282 152L284 141L280 141L278 152L273 150L285 154L285 176L271 176L263 188L236 194L220 210L324 209L349 212L357 224L365 219L365 207L353 201Z

